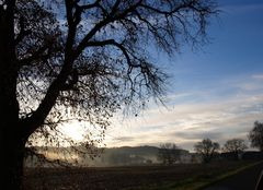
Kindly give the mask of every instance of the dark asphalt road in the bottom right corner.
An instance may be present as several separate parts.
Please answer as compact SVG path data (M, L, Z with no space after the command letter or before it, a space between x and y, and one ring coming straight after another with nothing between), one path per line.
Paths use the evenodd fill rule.
M254 190L262 170L263 163L215 183L205 190Z

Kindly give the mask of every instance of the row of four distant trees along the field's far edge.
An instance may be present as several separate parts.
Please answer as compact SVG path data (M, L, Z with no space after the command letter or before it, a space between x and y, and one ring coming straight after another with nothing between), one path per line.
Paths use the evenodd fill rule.
M263 122L255 121L248 138L251 147L259 149L263 152ZM232 158L239 159L247 149L249 149L249 146L245 144L244 140L239 138L226 141L222 147L220 147L218 142L214 142L210 139L204 139L194 144L194 150L197 155L201 156L203 163L209 163L219 152L230 154ZM172 165L180 161L182 153L183 150L176 144L163 143L160 144L158 157L164 165Z

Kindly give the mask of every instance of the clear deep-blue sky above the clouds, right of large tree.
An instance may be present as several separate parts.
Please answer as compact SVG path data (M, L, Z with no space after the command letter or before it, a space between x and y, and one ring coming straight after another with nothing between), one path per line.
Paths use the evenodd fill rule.
M263 2L220 2L221 13L208 28L210 44L198 52L186 49L174 60L174 80L185 87L263 71Z

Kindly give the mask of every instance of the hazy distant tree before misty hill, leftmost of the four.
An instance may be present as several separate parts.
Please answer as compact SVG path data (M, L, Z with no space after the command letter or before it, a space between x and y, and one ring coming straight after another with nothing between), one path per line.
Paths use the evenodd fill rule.
M160 144L158 158L164 165L173 165L180 159L181 150L174 143Z

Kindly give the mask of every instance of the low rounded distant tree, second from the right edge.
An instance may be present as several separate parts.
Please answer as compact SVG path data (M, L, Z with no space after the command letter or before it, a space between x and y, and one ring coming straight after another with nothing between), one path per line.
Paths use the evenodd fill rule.
M228 140L224 147L222 151L226 153L233 154L235 158L239 158L240 153L242 153L248 146L244 143L244 140L242 139L231 139Z

